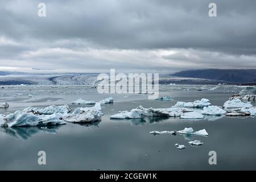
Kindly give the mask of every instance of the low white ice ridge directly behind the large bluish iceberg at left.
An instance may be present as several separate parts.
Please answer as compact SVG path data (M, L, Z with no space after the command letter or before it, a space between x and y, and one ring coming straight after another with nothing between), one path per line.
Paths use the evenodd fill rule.
M23 111L26 113L33 113L33 114L54 114L54 113L65 114L65 113L69 113L71 111L71 108L68 105L64 105L64 106L52 105L43 109L27 107Z

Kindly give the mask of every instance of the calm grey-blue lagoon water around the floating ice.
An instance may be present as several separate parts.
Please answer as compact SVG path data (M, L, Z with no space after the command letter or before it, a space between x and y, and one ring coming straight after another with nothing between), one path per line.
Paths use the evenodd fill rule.
M202 91L197 91L198 89ZM0 127L1 170L233 170L256 169L256 119L252 117L207 117L201 120L179 118L109 119L119 110L143 107L171 107L177 101L208 98L222 106L242 88L216 85L163 85L160 94L174 96L171 101L147 100L144 94L114 94L114 104L102 105L102 121L89 124L67 123L63 126ZM51 94L50 94L51 93ZM27 94L32 94L28 98ZM73 100L101 100L108 95L84 86L51 88L49 86L15 86L1 90L1 100L9 109L27 106L69 104ZM252 102L255 106L255 103ZM71 105L72 109L85 105ZM88 105L86 105L88 106ZM150 131L174 131L192 127L206 129L209 136L152 135ZM190 140L203 146L190 146ZM187 148L177 150L175 143ZM38 164L38 151L46 151L47 164ZM209 165L209 151L217 152L217 165Z

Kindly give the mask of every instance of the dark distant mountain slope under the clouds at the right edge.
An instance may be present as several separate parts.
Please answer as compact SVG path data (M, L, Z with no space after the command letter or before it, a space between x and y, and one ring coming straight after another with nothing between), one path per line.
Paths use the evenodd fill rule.
M256 69L199 69L177 72L172 76L205 78L236 83L255 83Z

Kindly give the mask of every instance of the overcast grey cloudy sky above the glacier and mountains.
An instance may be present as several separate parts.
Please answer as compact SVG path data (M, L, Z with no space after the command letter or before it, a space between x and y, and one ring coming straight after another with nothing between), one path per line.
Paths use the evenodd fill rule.
M0 71L256 68L255 0L1 0L0 24Z

